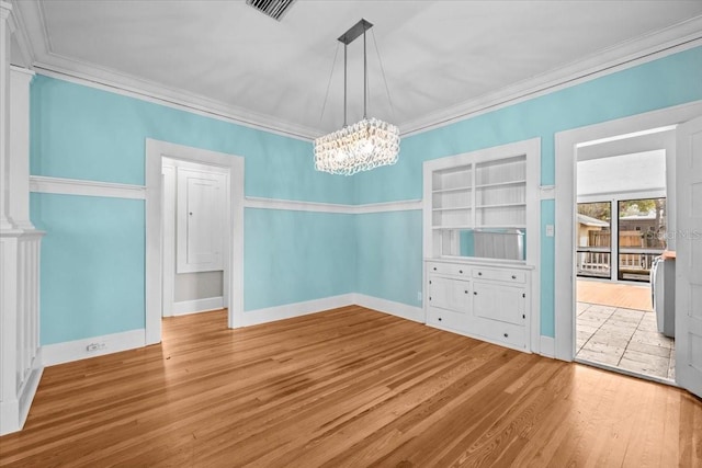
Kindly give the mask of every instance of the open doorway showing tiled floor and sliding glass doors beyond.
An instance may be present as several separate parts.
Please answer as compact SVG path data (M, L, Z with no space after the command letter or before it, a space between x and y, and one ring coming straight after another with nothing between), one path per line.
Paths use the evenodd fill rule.
M658 327L650 272L675 209L667 203L673 139L672 129L654 128L578 149L574 227L575 359L667 384L675 383L675 333Z

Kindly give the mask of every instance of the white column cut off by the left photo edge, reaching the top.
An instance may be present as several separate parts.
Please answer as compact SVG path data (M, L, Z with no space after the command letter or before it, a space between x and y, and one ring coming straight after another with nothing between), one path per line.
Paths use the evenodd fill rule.
M12 5L0 1L0 231L16 228L10 216L10 41Z

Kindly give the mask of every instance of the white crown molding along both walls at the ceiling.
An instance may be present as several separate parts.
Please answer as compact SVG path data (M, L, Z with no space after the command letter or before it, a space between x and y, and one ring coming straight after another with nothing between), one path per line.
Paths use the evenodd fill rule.
M30 62L42 75L307 141L324 134L320 129L299 126L271 115L254 113L58 55L52 50L50 35L44 21L41 1L22 1L12 15L18 18L18 28L21 31L18 37L23 37L27 55L31 57ZM423 115L415 121L399 123L398 126L403 137L423 133L700 45L702 15L610 47L497 92Z

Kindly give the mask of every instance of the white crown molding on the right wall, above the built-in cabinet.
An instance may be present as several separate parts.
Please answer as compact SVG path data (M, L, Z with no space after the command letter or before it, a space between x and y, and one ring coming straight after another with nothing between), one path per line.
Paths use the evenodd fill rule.
M494 93L403 123L400 124L401 136L443 127L700 45L702 45L702 15L627 41Z

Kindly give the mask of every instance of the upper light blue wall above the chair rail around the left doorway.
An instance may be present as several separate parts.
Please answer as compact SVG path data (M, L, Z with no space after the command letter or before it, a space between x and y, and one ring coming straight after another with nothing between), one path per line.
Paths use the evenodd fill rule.
M247 196L352 203L353 181L314 170L309 141L37 76L31 173L144 185L145 141L244 156Z

